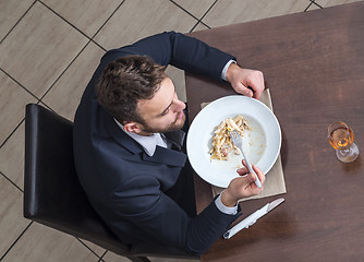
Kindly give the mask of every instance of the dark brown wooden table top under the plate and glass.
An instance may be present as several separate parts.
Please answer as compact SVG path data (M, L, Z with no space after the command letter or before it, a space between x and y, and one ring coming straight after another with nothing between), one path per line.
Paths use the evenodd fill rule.
M190 34L262 70L282 130L286 202L202 261L364 261L364 2ZM191 119L202 102L234 94L186 75ZM337 160L327 127L353 128L362 155ZM213 200L195 176L197 210ZM276 196L277 198L277 196ZM242 204L243 217L276 199Z

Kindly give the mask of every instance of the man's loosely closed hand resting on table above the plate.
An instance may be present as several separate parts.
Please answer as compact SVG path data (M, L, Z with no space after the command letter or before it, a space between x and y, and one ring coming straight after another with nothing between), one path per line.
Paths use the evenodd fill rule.
M264 76L260 71L242 69L238 64L231 63L228 68L226 79L236 93L260 99L262 92L265 88ZM251 87L254 93L248 87Z

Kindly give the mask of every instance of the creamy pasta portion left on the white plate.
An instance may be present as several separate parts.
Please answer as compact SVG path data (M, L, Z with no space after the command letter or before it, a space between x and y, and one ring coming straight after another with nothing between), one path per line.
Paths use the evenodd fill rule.
M230 152L239 155L239 148L232 143L229 131L236 130L240 136L244 135L244 130L251 130L242 115L235 118L223 120L214 131L213 147L209 151L211 159L228 160Z

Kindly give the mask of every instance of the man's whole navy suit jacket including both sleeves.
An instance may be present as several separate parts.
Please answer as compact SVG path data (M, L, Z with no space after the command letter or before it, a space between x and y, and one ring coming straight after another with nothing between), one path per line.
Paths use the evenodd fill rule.
M87 85L74 119L77 175L90 203L124 243L161 242L201 254L238 215L214 202L192 217L169 196L187 162L182 152L157 146L150 157L98 104L95 85L105 67L119 57L142 55L159 64L220 80L232 56L174 32L108 51Z

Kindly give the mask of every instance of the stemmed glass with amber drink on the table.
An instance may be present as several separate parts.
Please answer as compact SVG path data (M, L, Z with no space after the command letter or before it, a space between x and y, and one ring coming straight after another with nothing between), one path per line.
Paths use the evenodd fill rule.
M328 127L328 140L336 150L336 155L343 163L351 163L359 156L359 148L354 143L354 133L344 122L335 122Z

